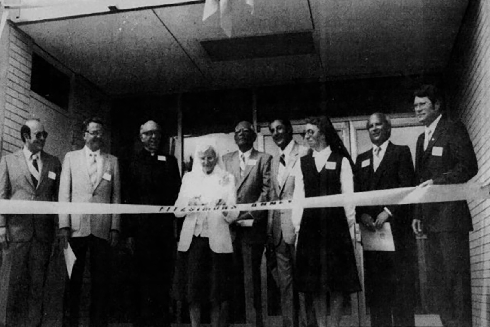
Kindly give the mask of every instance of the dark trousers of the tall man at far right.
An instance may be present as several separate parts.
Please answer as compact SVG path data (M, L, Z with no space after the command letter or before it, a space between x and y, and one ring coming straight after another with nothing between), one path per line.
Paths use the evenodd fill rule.
M444 326L471 327L469 234L427 233L429 299Z

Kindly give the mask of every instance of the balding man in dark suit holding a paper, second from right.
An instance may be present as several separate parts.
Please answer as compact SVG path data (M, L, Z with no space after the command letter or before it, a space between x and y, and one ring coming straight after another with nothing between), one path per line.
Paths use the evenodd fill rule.
M373 148L356 160L356 192L413 186L415 172L410 149L390 142L391 122L373 113L366 128ZM368 229L390 223L395 251L364 251L365 292L371 326L415 326L415 237L411 206L356 207L357 221Z

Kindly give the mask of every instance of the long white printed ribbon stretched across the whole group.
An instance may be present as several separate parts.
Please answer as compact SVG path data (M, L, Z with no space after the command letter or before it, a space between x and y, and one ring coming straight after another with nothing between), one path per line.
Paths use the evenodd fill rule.
M307 197L302 199L301 203L295 203L293 200L281 200L216 207L0 200L0 214L161 214L177 211L254 211L292 209L298 206L303 208L343 207L347 204L377 206L489 198L490 184L482 186L476 183L466 183Z

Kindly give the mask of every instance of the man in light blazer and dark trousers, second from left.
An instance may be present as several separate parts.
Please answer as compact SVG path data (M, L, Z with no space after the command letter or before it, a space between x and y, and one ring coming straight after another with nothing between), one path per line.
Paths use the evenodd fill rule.
M60 202L120 203L118 159L100 151L103 123L92 117L84 122L85 147L66 154L61 173ZM68 282L66 303L69 319L64 326L78 326L80 290L85 254L90 249L91 303L90 326L107 326L110 246L119 239L120 217L117 214L59 215L60 245L68 242L76 256Z

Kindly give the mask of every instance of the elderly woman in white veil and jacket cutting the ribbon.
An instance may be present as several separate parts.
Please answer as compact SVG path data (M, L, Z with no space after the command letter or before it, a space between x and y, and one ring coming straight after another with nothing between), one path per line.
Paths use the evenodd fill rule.
M235 180L224 170L216 140L196 145L192 171L185 174L176 206L216 206L236 203ZM238 212L176 213L185 217L177 247L175 293L187 300L192 327L200 325L201 305L211 302L211 324L224 324L226 301L231 295L233 247L229 224Z

